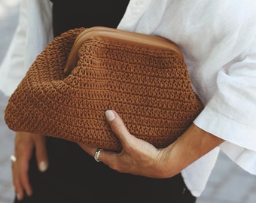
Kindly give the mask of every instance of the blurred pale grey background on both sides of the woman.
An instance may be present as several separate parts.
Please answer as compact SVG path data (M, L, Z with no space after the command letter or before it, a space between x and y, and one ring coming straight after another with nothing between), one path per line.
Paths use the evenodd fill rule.
M0 64L17 27L20 1L0 0ZM0 92L0 203L11 203L14 199L10 161L14 132L4 121L7 102L8 97ZM221 153L197 203L256 203L256 176L243 171Z

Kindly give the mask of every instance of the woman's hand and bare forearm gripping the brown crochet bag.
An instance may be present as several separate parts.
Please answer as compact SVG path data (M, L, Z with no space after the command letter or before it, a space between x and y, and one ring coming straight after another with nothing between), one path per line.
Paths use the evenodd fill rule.
M99 160L122 173L157 178L172 177L223 142L221 138L193 124L174 143L166 148L157 149L131 135L116 112L106 111L105 115L111 129L120 139L123 149L120 153L102 150ZM79 145L94 156L95 147Z

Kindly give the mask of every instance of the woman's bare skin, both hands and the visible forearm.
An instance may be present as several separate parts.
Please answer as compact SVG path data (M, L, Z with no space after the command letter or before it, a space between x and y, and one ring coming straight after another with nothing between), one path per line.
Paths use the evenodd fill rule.
M120 173L155 178L172 177L224 141L192 124L177 141L166 148L157 149L131 135L115 111L106 111L105 116L111 129L120 139L123 150L120 153L102 150L99 160ZM94 156L97 150L96 147L86 144L79 145L91 156ZM17 161L13 163L12 168L14 189L20 200L23 199L24 192L32 195L28 169L33 149L38 160L38 168L40 169L40 163L44 162L45 167L41 171L45 171L48 165L45 136L17 132L15 140Z

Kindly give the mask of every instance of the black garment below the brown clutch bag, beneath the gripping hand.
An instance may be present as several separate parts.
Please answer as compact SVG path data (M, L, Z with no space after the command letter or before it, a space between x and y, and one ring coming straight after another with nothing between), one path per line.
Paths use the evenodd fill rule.
M47 150L50 167L38 171L32 157L29 178L33 195L16 203L192 203L181 174L154 179L120 174L84 153L78 144L49 138Z

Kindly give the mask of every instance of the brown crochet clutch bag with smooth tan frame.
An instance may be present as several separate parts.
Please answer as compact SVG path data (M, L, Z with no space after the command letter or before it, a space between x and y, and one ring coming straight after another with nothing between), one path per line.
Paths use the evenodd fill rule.
M120 150L104 112L138 138L166 147L203 105L181 51L164 38L105 27L72 29L38 55L11 95L5 122L32 132Z

